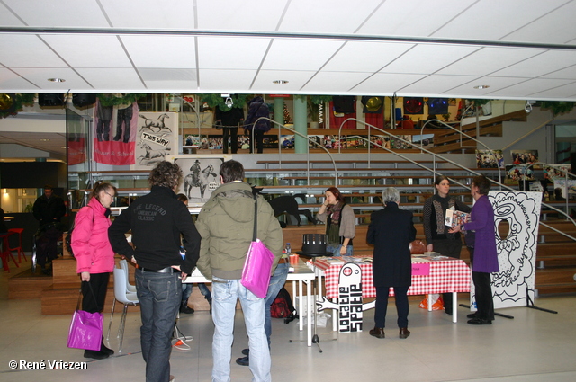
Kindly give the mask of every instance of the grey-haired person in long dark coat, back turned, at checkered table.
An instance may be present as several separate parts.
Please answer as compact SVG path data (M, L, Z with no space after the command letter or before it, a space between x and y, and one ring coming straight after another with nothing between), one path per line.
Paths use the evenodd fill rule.
M375 326L370 335L384 338L388 294L394 289L400 338L408 338L408 296L412 284L410 242L416 228L410 211L398 208L400 192L389 187L382 192L384 209L372 214L366 242L374 244L373 277L376 288Z

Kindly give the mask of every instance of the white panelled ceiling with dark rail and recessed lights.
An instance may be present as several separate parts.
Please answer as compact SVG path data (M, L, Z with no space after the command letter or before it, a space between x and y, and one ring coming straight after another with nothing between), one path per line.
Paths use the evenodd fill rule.
M576 101L574 18L576 0L0 0L0 92Z

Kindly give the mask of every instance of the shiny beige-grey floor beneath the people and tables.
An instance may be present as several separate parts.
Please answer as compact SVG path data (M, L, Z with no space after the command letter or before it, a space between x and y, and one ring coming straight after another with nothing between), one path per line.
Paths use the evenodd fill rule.
M143 381L144 362L139 353L139 314L130 313L123 353L107 360L88 361L85 370L12 370L10 360L29 362L85 361L82 351L67 349L70 315L42 316L39 300L8 300L7 275L0 274L0 380L7 381ZM197 290L194 293L198 293ZM467 295L460 298L466 303ZM392 302L393 304L393 302ZM338 334L331 326L319 328L320 353L291 339L305 339L297 321L273 322L273 380L294 381L570 381L576 380L576 297L537 298L536 306L558 311L557 315L515 307L501 310L514 319L497 318L490 326L465 323L466 309L459 308L459 323L448 315L420 309L410 301L410 331L398 338L395 309L389 309L386 339L371 337L374 312L365 313L365 332ZM119 310L117 310L119 311ZM110 312L106 312L107 328ZM234 359L247 347L247 336L238 311L236 341L232 349L232 380L251 380L247 367ZM110 347L118 350L114 318ZM211 336L208 312L185 315L178 327L190 351L172 352L176 380L211 380ZM337 341L329 341L336 338Z

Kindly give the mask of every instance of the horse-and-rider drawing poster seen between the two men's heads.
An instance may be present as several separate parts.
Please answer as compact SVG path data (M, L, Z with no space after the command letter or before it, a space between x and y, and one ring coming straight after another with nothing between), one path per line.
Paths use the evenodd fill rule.
M184 180L177 193L188 198L188 206L202 206L210 199L212 191L220 186L220 164L231 159L230 155L177 155L173 160L182 169Z

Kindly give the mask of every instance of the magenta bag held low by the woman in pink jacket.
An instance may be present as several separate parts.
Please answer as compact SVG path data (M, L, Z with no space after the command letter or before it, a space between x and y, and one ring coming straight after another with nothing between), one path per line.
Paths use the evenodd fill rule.
M92 285L88 283L94 296ZM80 296L76 304L76 311L72 315L72 322L68 330L68 348L85 349L86 351L100 351L102 346L102 333L104 316L100 312L88 313L80 310ZM95 297L94 297L95 301Z

